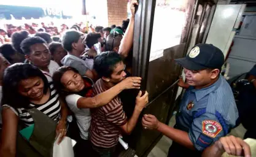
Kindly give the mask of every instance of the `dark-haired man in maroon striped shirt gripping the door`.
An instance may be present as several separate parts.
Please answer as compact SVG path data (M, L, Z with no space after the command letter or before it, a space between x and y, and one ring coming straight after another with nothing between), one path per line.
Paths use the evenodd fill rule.
M101 79L94 86L94 94L103 93L126 77L125 64L116 52L105 52L96 56L94 68ZM134 83L140 83L135 82ZM123 112L120 98L115 97L109 104L92 110L90 140L99 156L112 156L121 131L130 134L139 118L139 114L148 102L148 93L136 98L136 107L130 120Z

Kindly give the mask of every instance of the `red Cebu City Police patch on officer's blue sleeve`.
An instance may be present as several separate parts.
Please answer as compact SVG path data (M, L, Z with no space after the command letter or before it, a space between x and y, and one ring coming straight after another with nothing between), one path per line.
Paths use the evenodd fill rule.
M204 120L202 122L202 132L209 137L216 137L222 131L220 123L214 120Z

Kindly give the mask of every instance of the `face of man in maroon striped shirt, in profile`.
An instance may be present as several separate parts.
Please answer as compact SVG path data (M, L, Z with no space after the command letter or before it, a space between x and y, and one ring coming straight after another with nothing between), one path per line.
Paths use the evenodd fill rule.
M115 65L114 71L111 74L111 79L109 80L109 82L115 85L121 82L123 79L125 79L125 77L125 64L123 64L123 62L120 62Z

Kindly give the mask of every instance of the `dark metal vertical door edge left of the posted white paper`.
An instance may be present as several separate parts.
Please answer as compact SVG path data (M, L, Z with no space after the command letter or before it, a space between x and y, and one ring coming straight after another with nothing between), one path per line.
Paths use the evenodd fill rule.
M155 0L139 1L134 19L133 75L142 77L142 90L147 85L155 4Z

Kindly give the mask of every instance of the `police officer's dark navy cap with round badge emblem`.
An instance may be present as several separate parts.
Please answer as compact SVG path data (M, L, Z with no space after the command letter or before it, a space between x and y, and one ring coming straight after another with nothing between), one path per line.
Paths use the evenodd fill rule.
M222 50L212 44L198 44L185 58L175 59L181 66L191 71L221 69L224 64Z

